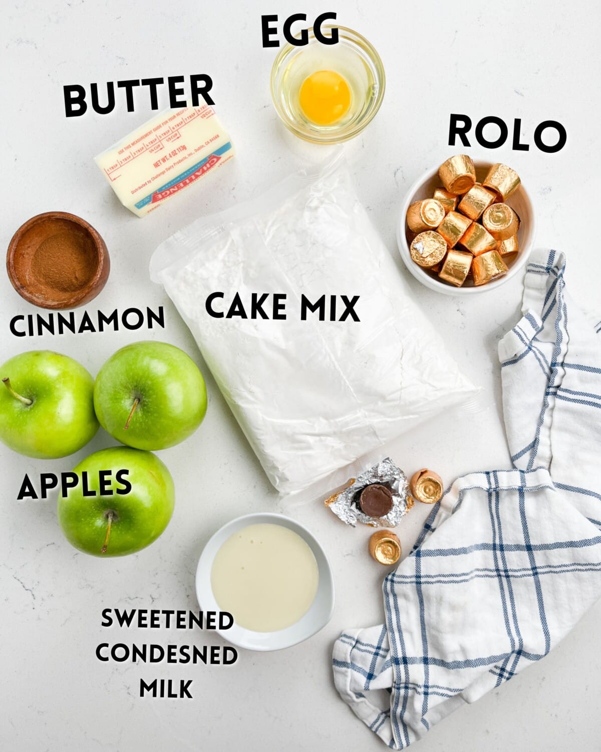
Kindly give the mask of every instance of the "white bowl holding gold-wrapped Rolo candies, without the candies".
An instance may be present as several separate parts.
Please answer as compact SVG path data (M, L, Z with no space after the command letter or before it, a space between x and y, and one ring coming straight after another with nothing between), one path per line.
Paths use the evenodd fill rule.
M493 164L494 162L482 162L474 159L476 180L479 183L482 183L482 180L486 177L488 168ZM490 290L496 290L497 287L505 284L512 277L515 277L515 274L518 274L518 271L520 271L527 262L528 256L530 256L530 251L533 248L536 220L530 194L524 188L524 184L520 183L518 190L516 190L507 200L509 206L515 209L521 220L520 229L518 230L518 243L520 250L518 251L518 257L514 260L512 265L509 266L507 274L503 274L503 277L499 277L497 280L493 280L488 284L479 285L479 287L475 287L470 280L467 280L462 287L455 287L455 285L448 284L433 277L428 271L416 264L409 253L412 233L409 232L409 229L407 228L407 209L409 209L409 206L415 201L419 201L420 199L431 199L436 188L439 188L440 186L442 186L442 183L438 177L438 168L436 167L432 170L428 170L425 174L419 177L418 180L415 180L415 183L409 188L405 200L403 201L403 205L400 208L400 215L397 222L397 244L401 258L415 279L419 280L421 284L424 284L426 287L430 287L430 290L436 290L437 293L443 293L444 295L470 296L479 295L479 293L488 293Z

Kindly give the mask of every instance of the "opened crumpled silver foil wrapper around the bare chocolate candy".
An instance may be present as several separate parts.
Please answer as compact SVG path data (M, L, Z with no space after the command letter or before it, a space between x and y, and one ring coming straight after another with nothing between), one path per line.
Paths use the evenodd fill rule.
M385 517L368 517L355 501L355 499L358 500L361 489L373 483L386 484L391 490L392 509ZM382 462L373 465L373 468L361 473L358 478L352 478L345 489L326 499L325 505L340 520L353 527L357 522L362 522L371 527L396 527L401 517L404 517L413 506L413 499L408 496L407 490L408 483L405 473L397 468L390 457L386 457L386 459L382 459Z

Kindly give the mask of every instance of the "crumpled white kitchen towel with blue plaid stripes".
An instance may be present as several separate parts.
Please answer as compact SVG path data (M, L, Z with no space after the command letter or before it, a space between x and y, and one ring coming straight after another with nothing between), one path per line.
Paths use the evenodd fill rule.
M385 624L347 629L334 682L393 749L544 657L601 596L601 322L562 254L527 265L499 344L514 468L459 478L383 585Z

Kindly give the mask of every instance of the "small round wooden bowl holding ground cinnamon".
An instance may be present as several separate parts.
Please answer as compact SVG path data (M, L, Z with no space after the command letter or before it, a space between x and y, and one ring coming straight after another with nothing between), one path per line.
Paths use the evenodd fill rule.
M85 220L64 211L37 214L8 244L6 270L17 293L40 308L77 308L107 282L104 240Z

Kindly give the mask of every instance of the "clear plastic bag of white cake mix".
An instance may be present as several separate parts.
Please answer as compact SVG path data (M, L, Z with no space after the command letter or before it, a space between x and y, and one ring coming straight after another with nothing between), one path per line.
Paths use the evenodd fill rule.
M342 156L162 243L165 286L281 493L470 399Z

